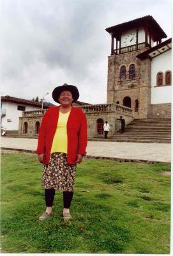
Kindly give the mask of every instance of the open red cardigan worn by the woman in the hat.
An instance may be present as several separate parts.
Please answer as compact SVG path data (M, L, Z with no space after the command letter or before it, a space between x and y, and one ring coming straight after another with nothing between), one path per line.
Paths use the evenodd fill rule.
M45 164L49 164L50 150L54 140L59 117L59 106L49 108L41 121L38 136L38 147L36 154L45 154ZM77 154L86 155L87 146L87 121L81 108L71 107L71 112L67 122L67 163L75 164Z

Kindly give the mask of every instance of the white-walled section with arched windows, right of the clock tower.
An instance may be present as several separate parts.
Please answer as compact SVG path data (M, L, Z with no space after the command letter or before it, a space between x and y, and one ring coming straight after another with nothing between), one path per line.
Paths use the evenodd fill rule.
M139 54L140 60L151 60L151 104L171 102L171 38Z

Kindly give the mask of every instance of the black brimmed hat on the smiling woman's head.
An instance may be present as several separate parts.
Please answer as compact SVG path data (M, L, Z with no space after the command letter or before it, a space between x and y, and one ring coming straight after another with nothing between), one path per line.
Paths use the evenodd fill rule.
M61 86L57 86L54 88L52 92L52 98L59 103L59 95L63 91L70 91L72 96L73 96L73 102L75 102L77 99L79 99L79 90L77 89L76 86L70 85L70 84L63 84Z

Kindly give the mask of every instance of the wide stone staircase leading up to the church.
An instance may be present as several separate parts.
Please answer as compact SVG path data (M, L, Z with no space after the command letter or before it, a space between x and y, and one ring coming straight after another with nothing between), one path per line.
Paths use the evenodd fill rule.
M170 143L171 118L134 119L130 124L126 125L123 134L118 131L115 135L108 136L107 140L141 143Z

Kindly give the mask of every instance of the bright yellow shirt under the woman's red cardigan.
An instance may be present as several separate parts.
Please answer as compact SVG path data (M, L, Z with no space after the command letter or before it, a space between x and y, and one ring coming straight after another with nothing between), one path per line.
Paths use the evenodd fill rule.
M62 152L67 154L67 132L66 124L70 111L63 114L59 111L56 133L52 143L51 153Z

